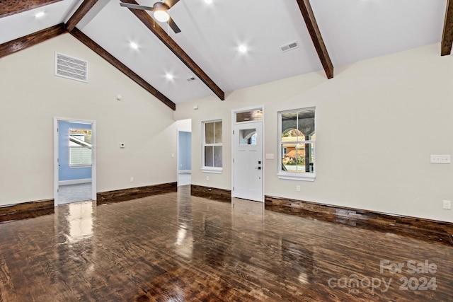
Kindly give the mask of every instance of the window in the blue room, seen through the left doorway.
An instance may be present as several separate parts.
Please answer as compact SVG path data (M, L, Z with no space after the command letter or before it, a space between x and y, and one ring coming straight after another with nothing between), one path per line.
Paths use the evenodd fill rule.
M69 166L91 165L91 130L69 129Z

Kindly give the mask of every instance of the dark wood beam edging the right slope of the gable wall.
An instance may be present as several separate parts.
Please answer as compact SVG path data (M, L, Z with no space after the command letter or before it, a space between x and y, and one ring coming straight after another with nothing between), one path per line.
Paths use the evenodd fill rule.
M87 35L82 33L78 28L74 28L71 30L71 35L76 37L77 40L80 42L84 43L87 47L89 47L93 52L96 52L99 56L103 57L105 61L109 62L113 66L115 66L119 71L121 71L123 74L128 76L132 81L135 83L139 84L139 86L142 86L146 91L154 95L156 98L161 100L162 103L167 105L169 108L172 110L176 110L176 104L173 103L170 99L168 99L165 95L160 93L156 88L153 86L149 85L147 81L142 79L138 74L135 74L134 71L130 70L125 64L122 64L118 59L113 57L112 54L107 52L107 50L104 50L103 47L98 45L96 42L90 39Z

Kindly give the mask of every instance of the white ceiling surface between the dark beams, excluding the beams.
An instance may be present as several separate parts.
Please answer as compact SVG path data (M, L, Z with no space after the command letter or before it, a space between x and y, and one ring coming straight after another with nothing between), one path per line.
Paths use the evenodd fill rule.
M152 6L154 1L137 2ZM67 21L81 2L64 0L0 18L0 44ZM174 103L214 94L200 79L188 82L193 72L119 3L98 1L77 28ZM440 42L446 4L311 0L334 67ZM45 16L35 18L37 11L45 11ZM170 30L170 36L225 93L322 71L296 0L180 0L170 13L182 30ZM166 24L162 27L168 30ZM298 48L280 50L294 41ZM139 49L132 50L130 42ZM239 54L241 44L248 46L248 53ZM175 79L166 79L166 73Z

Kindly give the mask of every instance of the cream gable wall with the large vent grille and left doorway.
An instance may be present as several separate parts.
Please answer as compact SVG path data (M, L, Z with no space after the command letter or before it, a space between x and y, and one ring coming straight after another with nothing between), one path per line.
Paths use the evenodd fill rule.
M55 76L55 52L89 82ZM176 182L173 110L71 35L0 59L0 86L0 205L53 198L53 117L96 120L98 192Z

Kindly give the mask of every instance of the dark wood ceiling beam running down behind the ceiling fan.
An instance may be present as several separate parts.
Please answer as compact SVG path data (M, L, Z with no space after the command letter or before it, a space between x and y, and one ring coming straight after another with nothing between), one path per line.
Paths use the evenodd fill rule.
M121 0L121 1L129 4L137 4L137 2L134 0ZM209 87L212 90L212 92L214 92L215 95L217 95L220 98L220 100L225 99L224 91L222 91L222 89L220 89L219 86L217 86L217 84L214 83L214 81L212 81L212 79L210 79L209 76L207 76L205 71L202 71L200 66L198 66L193 61L193 59L190 59L188 54L186 54L184 50L178 44L176 44L176 42L168 35L168 33L166 33L166 31L163 28L161 28L161 26L158 23L154 23L154 19L151 18L151 16L149 16L149 13L134 8L128 9L132 11L132 13L134 13L134 15L137 18L139 18L139 20L142 21L142 23L149 30L151 30L151 32L154 33L154 35L156 35L156 37L158 37L159 40L161 40L161 42L163 42L164 45L166 45L166 47L168 47L168 49L171 50L171 52L173 52L173 54L175 54L176 57L178 57L185 64L185 66L188 66L188 68L191 71L193 71L193 73L203 83L205 83L206 86Z

